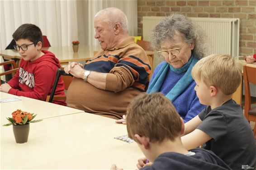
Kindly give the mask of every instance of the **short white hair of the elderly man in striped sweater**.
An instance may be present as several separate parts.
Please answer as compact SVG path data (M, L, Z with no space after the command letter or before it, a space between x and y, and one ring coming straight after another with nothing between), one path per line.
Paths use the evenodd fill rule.
M115 23L120 23L124 32L128 33L128 19L122 10L118 8L105 8L100 10L95 17L102 17L103 21L112 27Z

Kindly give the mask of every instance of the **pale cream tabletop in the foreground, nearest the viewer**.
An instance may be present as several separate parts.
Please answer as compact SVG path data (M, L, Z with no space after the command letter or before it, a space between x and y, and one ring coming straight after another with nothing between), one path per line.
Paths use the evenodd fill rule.
M28 142L17 144L12 127L0 127L1 169L97 169L115 163L137 169L143 157L135 142L114 137L127 134L126 125L89 113L44 119L30 124Z

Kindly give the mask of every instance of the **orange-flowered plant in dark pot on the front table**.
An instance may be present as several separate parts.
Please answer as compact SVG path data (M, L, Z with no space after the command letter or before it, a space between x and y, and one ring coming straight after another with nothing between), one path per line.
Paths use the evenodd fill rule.
M30 114L26 111L16 110L12 112L12 117L6 118L9 124L3 126L13 125L14 138L16 143L28 142L29 123L40 122L42 119L33 120L36 117L33 113Z

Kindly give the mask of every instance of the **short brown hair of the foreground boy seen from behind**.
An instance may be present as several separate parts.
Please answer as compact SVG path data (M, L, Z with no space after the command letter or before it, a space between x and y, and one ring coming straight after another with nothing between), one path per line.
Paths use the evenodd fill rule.
M148 137L150 142L173 141L180 135L180 115L171 101L160 92L135 97L127 113L128 136L136 142L135 134Z

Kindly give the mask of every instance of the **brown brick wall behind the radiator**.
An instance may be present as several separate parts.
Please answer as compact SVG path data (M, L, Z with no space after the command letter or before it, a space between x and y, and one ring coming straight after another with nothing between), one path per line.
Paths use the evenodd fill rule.
M240 55L256 53L256 0L137 0L138 35L143 16L240 18Z

